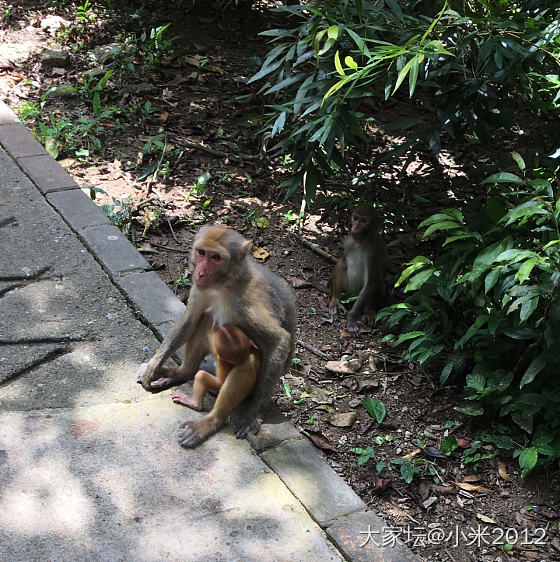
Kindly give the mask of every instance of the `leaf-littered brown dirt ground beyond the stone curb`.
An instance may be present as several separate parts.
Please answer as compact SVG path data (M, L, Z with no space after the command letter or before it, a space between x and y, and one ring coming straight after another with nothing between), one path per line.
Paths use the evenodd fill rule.
M264 100L258 84L247 84L268 50L257 33L275 25L273 16L259 5L219 14L185 4L152 3L153 22L141 21L148 36L151 28L172 22L164 36L175 38L172 53L155 68L132 58L133 73L114 72L99 92L100 101L119 110L102 120L95 135L99 145L83 135L74 139L89 150L85 157L69 150L70 142L60 142L58 160L88 192L88 187L105 192L98 191L96 201L109 206L113 220L120 219L182 298L190 287L188 249L199 225L207 222L238 229L254 243L255 255L294 287L298 362L275 400L387 522L386 536L377 541L389 541L392 532L430 561L560 560L559 474L540 471L522 480L517 462L488 444L483 452L492 458L479 463L462 465L460 452L443 457L438 446L447 433L467 448L482 429L453 409L461 402L460 381L442 388L437 373L404 363L398 348L379 343L382 325L364 327L361 337L352 339L342 314L334 323L329 319L323 287L332 263L298 236L293 217L301 194L284 201L278 186L288 170L261 144ZM72 4L44 6L0 1L0 95L21 116L29 109L25 102L40 107L40 115L27 121L36 131L39 121L48 126L51 117L59 123L67 117L72 124L82 117L87 123L91 98L84 103L83 93L81 99L76 92L63 95L60 86L83 84L94 68L104 73L98 48L122 45L134 23L130 5L116 18L96 10L86 24ZM48 19L54 15L66 20L58 31ZM45 62L48 49L66 51L67 59ZM54 95L41 97L53 87ZM502 144L494 153L475 151L468 143L437 161L426 153L404 172L369 164L375 152L398 141L383 130L384 120L411 111L396 102L384 106L369 131L371 145L353 155L354 172L368 177L362 193L385 213L393 281L407 259L437 248L420 247L417 225L450 202L479 195L480 179L508 149L520 149L515 138L507 138L506 150ZM147 144L152 151L143 152ZM333 255L346 231L344 209L357 198L352 177L341 174L307 209L305 238ZM344 355L353 360L340 372L332 362ZM381 424L363 407L366 397L385 405ZM359 465L360 455L351 449L368 447L371 458ZM423 459L410 484L391 463L405 455ZM508 554L506 542L514 543Z

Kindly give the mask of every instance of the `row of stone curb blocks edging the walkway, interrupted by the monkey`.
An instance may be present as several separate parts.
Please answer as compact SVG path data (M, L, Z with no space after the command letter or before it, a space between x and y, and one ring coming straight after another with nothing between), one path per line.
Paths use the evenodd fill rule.
M183 313L183 303L2 101L0 144L161 339ZM259 434L250 436L249 441L344 557L368 562L419 561L398 542L386 544L388 526L384 521L367 510L292 422L277 408L271 410Z

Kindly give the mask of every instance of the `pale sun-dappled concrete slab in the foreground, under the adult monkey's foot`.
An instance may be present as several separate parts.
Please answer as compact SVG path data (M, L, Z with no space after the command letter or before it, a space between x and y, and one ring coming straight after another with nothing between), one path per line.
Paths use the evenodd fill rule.
M0 416L0 559L342 560L247 442L177 446L160 397Z

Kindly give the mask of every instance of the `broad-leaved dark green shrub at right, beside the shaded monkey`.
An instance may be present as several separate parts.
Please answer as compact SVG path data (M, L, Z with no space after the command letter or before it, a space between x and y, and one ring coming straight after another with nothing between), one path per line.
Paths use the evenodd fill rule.
M523 173L525 163L514 154ZM441 365L441 383L465 377L469 415L509 416L523 431L525 472L560 458L560 193L558 168L497 173L485 208L445 209L424 238L445 233L439 257L417 256L397 281L409 296L381 310L406 343L405 359Z

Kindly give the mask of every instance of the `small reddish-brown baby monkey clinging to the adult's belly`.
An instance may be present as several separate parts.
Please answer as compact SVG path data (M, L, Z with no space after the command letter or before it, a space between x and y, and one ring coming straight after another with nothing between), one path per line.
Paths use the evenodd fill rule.
M213 329L208 337L210 349L216 357L216 376L201 369L194 377L192 398L182 392L176 392L171 399L176 404L200 412L203 409L204 396L208 391L213 392L218 397L209 416L223 423L231 410L254 388L261 359L255 344L237 326L224 324ZM227 377L235 379L239 373L244 375L243 388L237 393L238 400L230 400L226 409L223 400L220 400L220 389ZM236 382L236 386L238 385L239 381Z

